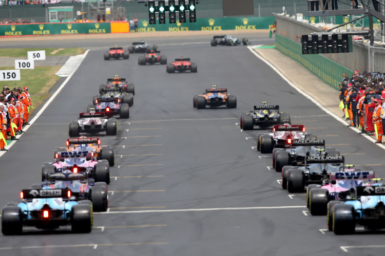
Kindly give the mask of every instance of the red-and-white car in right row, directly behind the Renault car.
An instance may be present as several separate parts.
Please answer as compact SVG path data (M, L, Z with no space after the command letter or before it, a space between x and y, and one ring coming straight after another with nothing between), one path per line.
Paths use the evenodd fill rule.
M305 133L303 125L274 125L272 132L257 134L257 150L262 154L273 153L273 148L286 147L293 140L306 139L307 136L309 134Z

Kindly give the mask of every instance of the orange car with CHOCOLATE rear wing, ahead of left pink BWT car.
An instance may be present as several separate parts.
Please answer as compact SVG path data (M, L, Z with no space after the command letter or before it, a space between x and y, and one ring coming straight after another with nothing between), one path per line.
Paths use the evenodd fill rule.
M80 138L70 138L67 139L66 144L67 147L55 148L54 157L57 152L61 152L63 149L65 149L67 152L86 150L95 152L94 156L98 160L105 159L108 161L110 166L115 164L113 148L110 146L101 146L101 141L99 138L87 138L84 136Z

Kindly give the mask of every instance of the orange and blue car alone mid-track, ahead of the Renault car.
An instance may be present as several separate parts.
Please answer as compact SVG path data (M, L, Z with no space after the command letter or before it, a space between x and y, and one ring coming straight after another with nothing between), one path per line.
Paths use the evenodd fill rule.
M227 94L226 88L213 86L212 89L206 89L205 93L194 95L192 105L197 109L205 109L206 105L213 108L226 105L229 109L235 109L237 108L237 97Z

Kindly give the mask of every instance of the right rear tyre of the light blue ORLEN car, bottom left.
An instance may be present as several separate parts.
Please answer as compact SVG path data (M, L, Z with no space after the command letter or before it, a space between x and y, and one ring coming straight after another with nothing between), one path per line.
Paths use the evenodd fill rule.
M77 204L71 209L71 230L74 233L89 233L92 230L92 206Z

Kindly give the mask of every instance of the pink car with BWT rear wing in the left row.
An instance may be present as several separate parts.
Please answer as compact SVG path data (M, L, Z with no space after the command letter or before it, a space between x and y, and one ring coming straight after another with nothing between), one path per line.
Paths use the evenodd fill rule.
M110 183L110 166L107 160L97 160L95 152L84 147L79 151L58 151L53 162L43 163L42 181L52 173L63 173L70 169L73 173L84 173L95 182Z

